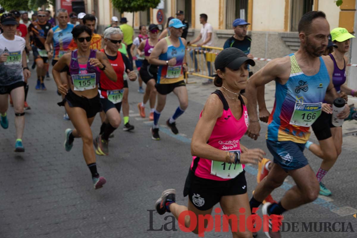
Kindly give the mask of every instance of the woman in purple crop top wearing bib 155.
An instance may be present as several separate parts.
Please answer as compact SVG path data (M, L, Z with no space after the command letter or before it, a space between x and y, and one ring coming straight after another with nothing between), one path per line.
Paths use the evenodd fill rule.
M97 172L95 152L93 148L93 135L90 126L97 112L101 111L98 94L100 71L116 81L117 77L106 55L100 51L89 48L92 31L84 25L78 25L72 30L73 39L78 49L63 55L54 65L52 74L57 84L58 91L64 97L62 102L75 129L65 131L65 150L70 151L74 138L81 137L83 141L83 156L92 174L94 188L101 188L106 182L104 177L99 177ZM70 89L63 84L60 72L69 67L71 74Z

